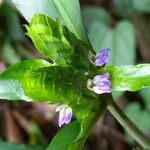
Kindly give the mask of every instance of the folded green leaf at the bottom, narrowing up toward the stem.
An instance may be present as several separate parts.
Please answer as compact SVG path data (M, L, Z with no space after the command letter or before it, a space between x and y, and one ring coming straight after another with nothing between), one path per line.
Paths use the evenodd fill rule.
M85 118L78 119L80 124L75 121L61 129L48 150L81 150L93 126L106 111L108 99L108 95L105 95L105 97L100 96L99 99L94 101L94 105L92 102L91 105L93 106L90 113Z

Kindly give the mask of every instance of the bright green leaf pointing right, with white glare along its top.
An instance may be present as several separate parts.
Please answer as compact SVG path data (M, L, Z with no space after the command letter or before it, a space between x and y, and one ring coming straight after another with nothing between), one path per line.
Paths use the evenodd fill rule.
M110 73L112 90L137 91L150 86L150 64L108 66L100 72Z

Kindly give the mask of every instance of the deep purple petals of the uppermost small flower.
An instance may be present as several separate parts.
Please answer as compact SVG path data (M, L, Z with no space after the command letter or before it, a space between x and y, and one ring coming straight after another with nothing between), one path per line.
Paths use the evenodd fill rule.
M102 66L105 63L108 62L108 51L110 48L104 48L100 52L96 54L96 60L95 60L95 65L96 66Z

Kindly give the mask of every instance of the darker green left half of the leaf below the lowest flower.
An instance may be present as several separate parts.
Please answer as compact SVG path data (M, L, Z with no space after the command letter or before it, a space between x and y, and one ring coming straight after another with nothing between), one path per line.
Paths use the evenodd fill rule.
M77 121L66 125L54 137L47 150L69 150L69 147L77 142L80 133L80 124Z

